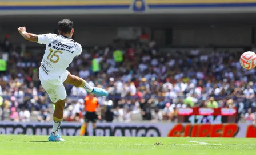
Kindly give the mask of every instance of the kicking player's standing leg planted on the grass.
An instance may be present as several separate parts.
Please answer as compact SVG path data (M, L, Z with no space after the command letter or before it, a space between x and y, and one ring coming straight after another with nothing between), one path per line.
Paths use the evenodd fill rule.
M61 123L63 120L63 111L65 107L65 100L59 100L55 104L55 109L53 113L53 129L50 136L48 137L49 141L65 141L61 138L59 134L59 128L61 128Z

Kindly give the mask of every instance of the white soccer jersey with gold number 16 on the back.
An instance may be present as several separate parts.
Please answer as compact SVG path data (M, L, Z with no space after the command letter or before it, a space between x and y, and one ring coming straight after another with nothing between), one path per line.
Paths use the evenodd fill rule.
M61 85L63 82L61 76L75 56L81 54L82 46L73 39L57 34L38 35L37 42L46 44L39 74L54 85Z

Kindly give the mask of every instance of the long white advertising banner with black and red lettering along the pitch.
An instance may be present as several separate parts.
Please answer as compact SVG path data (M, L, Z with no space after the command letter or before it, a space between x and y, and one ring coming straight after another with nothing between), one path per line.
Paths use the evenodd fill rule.
M78 136L81 123L61 125L64 136ZM49 135L52 123L0 122L0 134ZM91 126L88 129L92 134ZM177 124L177 123L98 123L97 136L133 137L250 137L256 138L256 127L241 124Z

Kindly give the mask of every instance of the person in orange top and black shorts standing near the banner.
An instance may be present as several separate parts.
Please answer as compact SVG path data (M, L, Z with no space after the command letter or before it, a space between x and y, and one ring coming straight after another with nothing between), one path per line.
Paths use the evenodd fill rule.
M96 135L96 121L101 119L101 109L99 107L98 99L94 96L93 93L90 93L85 97L85 123L81 128L81 136L88 136L87 127L91 122L93 123L93 136ZM98 115L97 115L98 112Z

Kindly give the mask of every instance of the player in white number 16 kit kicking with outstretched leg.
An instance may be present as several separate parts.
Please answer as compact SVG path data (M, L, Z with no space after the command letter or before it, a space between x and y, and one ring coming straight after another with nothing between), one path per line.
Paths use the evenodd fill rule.
M45 54L39 68L39 79L42 87L48 93L50 100L55 104L53 113L53 130L48 138L49 141L65 141L59 134L63 119L66 90L63 83L72 84L75 87L82 87L90 93L98 96L107 96L102 88L92 87L85 80L71 75L67 67L82 52L82 46L72 38L74 23L68 19L59 21L59 35L42 34L36 35L26 32L26 27L19 27L19 33L30 42L46 44Z

